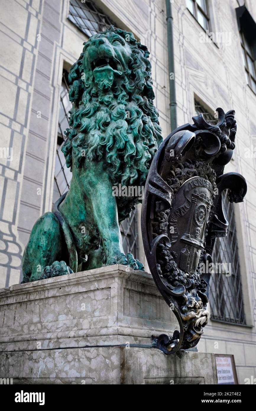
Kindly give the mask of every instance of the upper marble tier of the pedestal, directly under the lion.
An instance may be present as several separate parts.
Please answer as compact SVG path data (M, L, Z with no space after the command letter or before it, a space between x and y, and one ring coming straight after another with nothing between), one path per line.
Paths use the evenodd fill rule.
M0 289L0 351L151 346L179 329L152 276L115 265Z

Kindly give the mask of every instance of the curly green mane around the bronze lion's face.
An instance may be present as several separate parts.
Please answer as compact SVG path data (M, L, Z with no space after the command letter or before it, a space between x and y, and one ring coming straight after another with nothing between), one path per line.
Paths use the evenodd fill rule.
M149 51L132 33L113 26L99 35L111 31L129 39L132 54L128 67L115 78L111 90L97 89L91 73L84 73L83 56L88 42L84 43L83 52L69 72L69 100L73 106L62 152L71 170L74 165L81 167L86 157L107 164L113 185L144 186L162 141L158 113L152 103L155 95ZM137 202L117 198L120 220Z

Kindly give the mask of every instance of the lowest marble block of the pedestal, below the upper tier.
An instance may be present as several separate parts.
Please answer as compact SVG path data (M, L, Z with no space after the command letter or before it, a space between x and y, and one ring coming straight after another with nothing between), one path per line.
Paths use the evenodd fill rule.
M1 377L14 384L217 384L215 356L158 349L90 347L0 354Z

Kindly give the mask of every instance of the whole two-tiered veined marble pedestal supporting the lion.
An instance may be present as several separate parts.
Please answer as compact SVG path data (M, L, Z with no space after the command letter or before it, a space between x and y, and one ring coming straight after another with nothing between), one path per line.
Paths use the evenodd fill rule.
M0 290L0 377L13 383L213 384L214 354L154 348L178 329L150 274L110 266Z

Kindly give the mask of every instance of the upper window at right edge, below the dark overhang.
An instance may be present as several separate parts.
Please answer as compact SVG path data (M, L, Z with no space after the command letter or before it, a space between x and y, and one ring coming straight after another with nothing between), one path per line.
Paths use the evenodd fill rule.
M252 47L242 31L240 31L240 40L242 45L247 84L256 94L256 66L253 58Z

